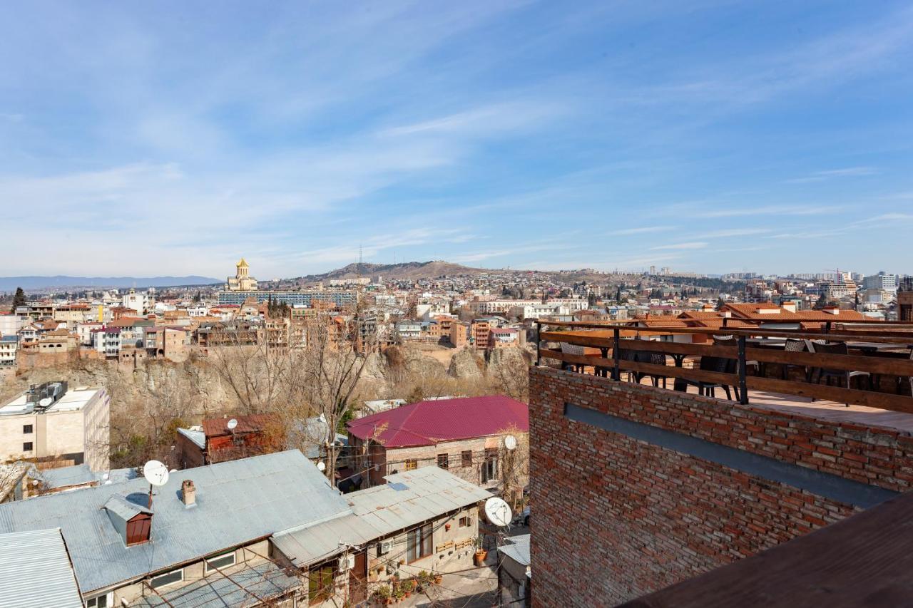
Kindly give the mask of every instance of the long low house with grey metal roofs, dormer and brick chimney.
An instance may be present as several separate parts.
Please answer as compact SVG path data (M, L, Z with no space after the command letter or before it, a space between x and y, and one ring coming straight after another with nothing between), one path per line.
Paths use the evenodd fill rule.
M330 608L471 568L488 493L434 468L388 481L343 497L290 450L174 471L152 492L140 478L0 505L0 533L59 529L91 608Z

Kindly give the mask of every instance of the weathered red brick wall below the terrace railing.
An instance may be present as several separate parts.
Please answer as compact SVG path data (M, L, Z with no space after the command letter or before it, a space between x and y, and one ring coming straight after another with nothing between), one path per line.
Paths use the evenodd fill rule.
M534 605L620 603L855 510L572 422L565 403L878 487L906 491L913 481L907 434L533 368Z

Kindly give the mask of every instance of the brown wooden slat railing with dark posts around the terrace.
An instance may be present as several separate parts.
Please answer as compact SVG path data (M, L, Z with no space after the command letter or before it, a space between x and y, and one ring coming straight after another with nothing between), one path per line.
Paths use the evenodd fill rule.
M671 319L670 319L671 320ZM783 393L813 399L823 399L839 404L868 405L885 410L913 413L913 398L908 396L908 378L913 377L913 361L909 358L909 348L913 345L913 332L905 332L897 324L883 325L877 330L846 331L842 328L822 330L767 330L727 328L642 328L636 327L637 321L617 323L578 323L573 321L540 321L539 341L537 343L537 363L542 358L555 360L581 371L621 380L623 372L647 374L684 381L677 383L677 390L684 390L683 384L711 383L738 389L736 393L742 404L749 403L749 390ZM887 330L890 327L890 330ZM908 325L909 327L909 325ZM560 328L561 330L548 330ZM568 330L587 330L573 331ZM602 331L593 331L602 330ZM656 341L651 336L673 336L679 340L698 338L706 342L689 341ZM713 343L713 336L733 336L737 346L724 346ZM848 354L823 352L796 352L776 348L764 348L752 344L754 339L794 338L801 340L826 340L828 342L850 343ZM564 342L598 352L571 354L559 349L547 348L549 342ZM866 350L874 350L875 345L897 351L875 351L864 354L860 348L854 348L852 342L866 343ZM893 345L893 347L892 347ZM862 345L861 345L862 346ZM623 351L660 352L669 355L676 362L675 366L656 363L630 361L622 356ZM734 364L727 372L711 372L698 369L697 366L685 367L687 358L717 357L730 360ZM824 383L810 383L803 380L770 377L768 375L750 375L748 362L759 362L759 369L778 367L776 372L789 365L807 370L829 370L846 372L868 372L869 384L878 381L876 386L869 385L869 390L846 388L845 386L828 386ZM789 376L787 376L789 378ZM878 390L887 379L889 388L895 392ZM902 382L900 382L902 380ZM899 391L899 392L898 392Z

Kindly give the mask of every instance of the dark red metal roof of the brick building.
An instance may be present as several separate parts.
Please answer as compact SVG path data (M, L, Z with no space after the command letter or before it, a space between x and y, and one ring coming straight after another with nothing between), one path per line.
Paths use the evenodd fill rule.
M353 420L348 426L352 435L375 439L385 447L432 446L498 435L511 427L529 431L530 408L503 395L420 401Z

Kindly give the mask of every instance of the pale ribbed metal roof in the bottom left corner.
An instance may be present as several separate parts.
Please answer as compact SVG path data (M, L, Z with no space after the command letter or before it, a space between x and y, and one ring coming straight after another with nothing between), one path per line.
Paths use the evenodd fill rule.
M82 607L60 529L0 534L0 606Z

